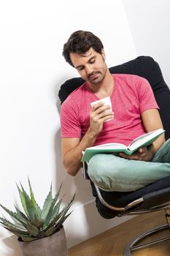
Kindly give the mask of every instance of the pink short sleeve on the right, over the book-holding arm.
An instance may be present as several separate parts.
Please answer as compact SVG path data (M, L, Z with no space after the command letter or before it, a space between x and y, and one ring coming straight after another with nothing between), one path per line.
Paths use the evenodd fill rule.
M136 88L137 94L139 95L139 109L141 113L149 109L159 109L152 88L147 79L140 78L139 86Z

